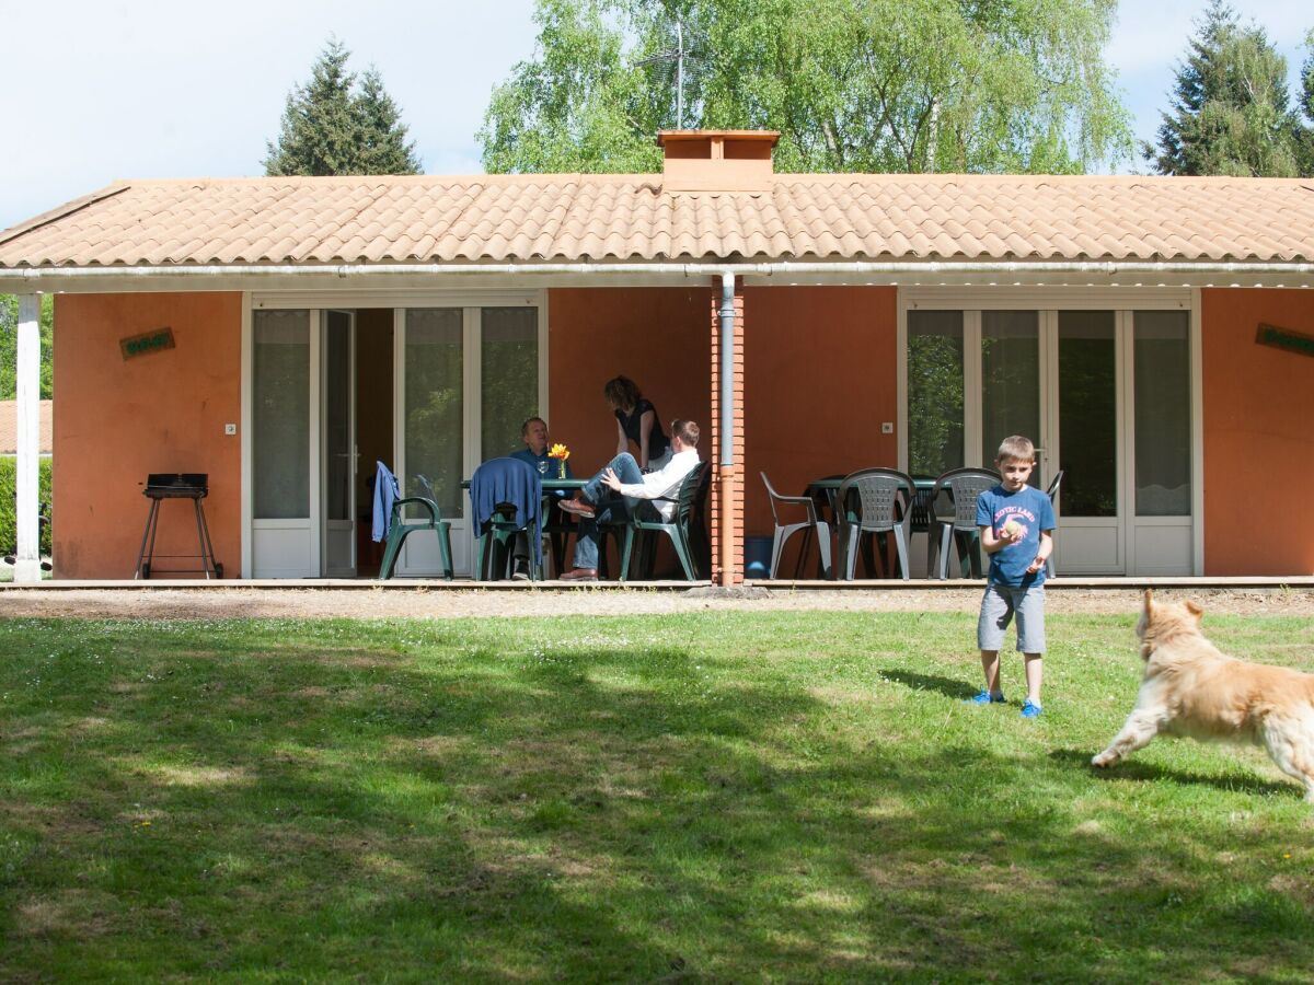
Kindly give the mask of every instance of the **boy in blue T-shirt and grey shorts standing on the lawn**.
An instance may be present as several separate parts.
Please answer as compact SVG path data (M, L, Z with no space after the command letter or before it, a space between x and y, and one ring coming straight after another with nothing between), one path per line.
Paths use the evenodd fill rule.
M976 525L989 554L989 578L976 621L986 690L974 704L1001 704L999 647L1017 615L1017 649L1026 662L1026 701L1022 717L1041 714L1045 654L1045 561L1054 550L1054 506L1026 479L1035 468L1035 445L1021 435L1005 437L995 468L1003 482L976 500Z

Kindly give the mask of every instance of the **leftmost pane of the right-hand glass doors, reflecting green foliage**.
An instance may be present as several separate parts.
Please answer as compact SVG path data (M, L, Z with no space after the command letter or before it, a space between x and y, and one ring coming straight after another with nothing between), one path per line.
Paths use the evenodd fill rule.
M908 313L908 471L963 465L963 313Z

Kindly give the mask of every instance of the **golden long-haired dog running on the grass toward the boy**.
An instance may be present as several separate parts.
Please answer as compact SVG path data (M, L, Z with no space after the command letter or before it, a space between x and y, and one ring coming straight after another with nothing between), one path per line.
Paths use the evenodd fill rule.
M1137 707L1091 764L1113 766L1160 732L1263 743L1314 804L1314 674L1227 657L1200 632L1201 615L1193 602L1160 603L1146 591L1137 624L1146 662Z

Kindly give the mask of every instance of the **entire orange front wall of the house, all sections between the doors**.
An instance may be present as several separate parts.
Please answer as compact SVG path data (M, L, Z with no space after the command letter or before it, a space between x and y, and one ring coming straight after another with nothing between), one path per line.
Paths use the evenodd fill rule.
M548 297L553 436L577 474L615 449L603 383L632 376L664 420L710 431L708 288L553 289ZM782 492L816 475L894 465L896 293L891 288L744 292L745 531L769 535L759 470ZM55 301L54 527L58 578L131 575L148 471L208 471L218 559L240 566L240 296L64 294ZM1238 462L1264 485L1303 489L1314 457L1314 360L1255 343L1260 322L1314 335L1314 296L1202 292L1205 574L1314 571L1314 516L1238 524L1256 508ZM118 340L170 326L176 348L122 360ZM711 449L703 449L704 456ZM1244 471L1244 469L1243 469ZM1254 475L1251 474L1251 478ZM164 504L158 553L194 553L191 514ZM1293 525L1294 524L1294 525Z

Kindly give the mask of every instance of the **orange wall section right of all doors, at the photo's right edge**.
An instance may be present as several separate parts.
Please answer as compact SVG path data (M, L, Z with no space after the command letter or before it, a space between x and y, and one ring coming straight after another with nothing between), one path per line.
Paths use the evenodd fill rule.
M1314 335L1314 292L1201 292L1206 575L1314 573L1314 514L1284 506L1314 469L1314 359L1259 345L1260 322Z

